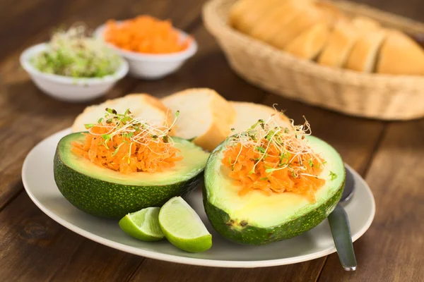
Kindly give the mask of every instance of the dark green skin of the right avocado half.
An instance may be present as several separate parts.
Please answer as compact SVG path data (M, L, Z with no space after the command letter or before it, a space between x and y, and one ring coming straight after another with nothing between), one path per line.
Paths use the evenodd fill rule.
M324 204L310 211L309 213L270 228L259 228L250 226L248 222L231 219L222 209L215 207L208 202L206 188L203 190L203 200L206 215L213 228L223 235L223 237L237 243L249 245L266 245L272 242L285 240L309 231L326 219L334 210L343 193L344 183L337 192Z

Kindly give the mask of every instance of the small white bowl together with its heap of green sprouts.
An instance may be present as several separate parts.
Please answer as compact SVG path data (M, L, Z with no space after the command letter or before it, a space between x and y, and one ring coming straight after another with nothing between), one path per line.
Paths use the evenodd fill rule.
M20 64L45 94L66 102L104 95L128 73L128 63L88 35L84 25L57 30L47 43L25 49Z

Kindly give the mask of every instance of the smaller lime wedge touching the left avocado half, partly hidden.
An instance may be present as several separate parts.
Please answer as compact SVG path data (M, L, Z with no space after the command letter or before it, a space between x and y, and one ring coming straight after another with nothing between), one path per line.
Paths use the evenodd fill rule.
M127 214L119 226L128 235L143 241L158 241L164 237L159 226L160 207L148 207L139 212Z

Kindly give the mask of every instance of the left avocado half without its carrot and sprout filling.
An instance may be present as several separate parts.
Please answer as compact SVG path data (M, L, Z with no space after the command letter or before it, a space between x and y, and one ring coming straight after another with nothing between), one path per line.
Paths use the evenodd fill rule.
M54 156L54 180L66 200L78 209L105 218L120 219L129 212L159 207L170 198L186 195L199 183L208 153L194 143L172 137L182 161L158 173L128 175L93 164L71 152L71 143L84 135L63 137Z

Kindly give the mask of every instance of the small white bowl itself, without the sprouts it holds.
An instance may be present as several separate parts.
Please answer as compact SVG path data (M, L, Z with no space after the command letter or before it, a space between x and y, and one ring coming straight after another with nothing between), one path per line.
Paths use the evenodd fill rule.
M25 49L20 55L20 65L28 72L37 87L45 94L66 102L86 102L98 98L109 91L115 83L128 73L128 63L122 63L112 75L102 78L70 78L63 75L42 73L30 59L47 49L47 44L37 44Z

